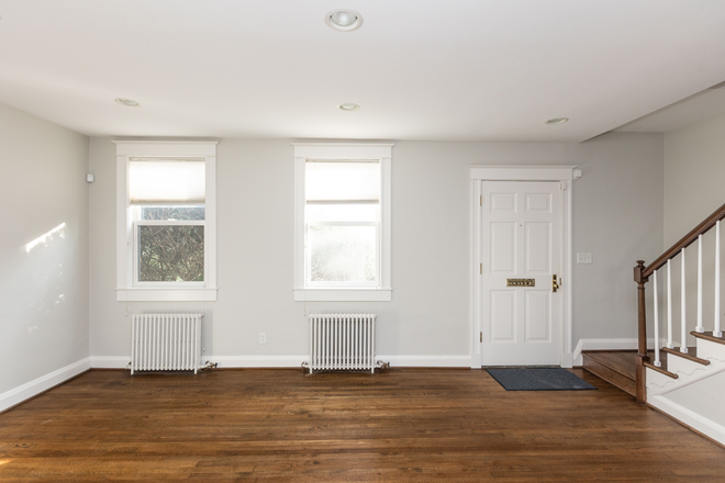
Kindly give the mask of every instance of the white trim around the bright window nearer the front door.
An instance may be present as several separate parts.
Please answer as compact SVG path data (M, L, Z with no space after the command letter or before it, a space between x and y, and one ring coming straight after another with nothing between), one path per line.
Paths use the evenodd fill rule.
M292 143L294 146L294 301L298 302L390 302L391 279L391 161L393 144ZM380 160L379 280L373 288L305 287L304 175L308 159Z

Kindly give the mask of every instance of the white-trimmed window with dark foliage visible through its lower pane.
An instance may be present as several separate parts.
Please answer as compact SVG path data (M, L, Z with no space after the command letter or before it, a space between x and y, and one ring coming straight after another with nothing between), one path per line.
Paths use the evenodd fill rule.
M116 300L216 300L216 143L115 143Z

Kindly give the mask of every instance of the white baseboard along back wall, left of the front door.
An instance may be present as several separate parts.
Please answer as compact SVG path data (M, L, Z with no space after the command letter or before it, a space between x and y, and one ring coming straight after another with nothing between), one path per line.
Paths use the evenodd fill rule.
M202 356L202 363L217 362L220 368L300 368L310 356ZM376 360L398 368L470 368L470 356L376 356ZM94 369L125 369L131 356L92 356Z

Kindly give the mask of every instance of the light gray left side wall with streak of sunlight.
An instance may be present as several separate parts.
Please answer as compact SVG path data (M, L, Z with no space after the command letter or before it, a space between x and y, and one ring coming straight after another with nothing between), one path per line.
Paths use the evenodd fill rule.
M88 138L0 104L0 167L1 394L89 355Z

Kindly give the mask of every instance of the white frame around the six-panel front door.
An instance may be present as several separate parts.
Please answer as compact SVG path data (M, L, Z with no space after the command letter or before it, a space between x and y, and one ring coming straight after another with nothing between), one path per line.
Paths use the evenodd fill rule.
M561 356L559 363L562 368L570 368L573 363L572 358L572 338L573 324L571 319L571 262L573 258L571 247L572 229L572 181L578 179L581 173L576 170L576 166L492 166L492 165L470 165L470 257L471 257L471 279L470 279L470 323L471 323L471 368L481 368L481 273L482 263L481 254L481 223L483 211L481 207L481 181L559 181L561 189L565 190L562 198L562 282L564 301L561 311ZM576 170L576 172L575 172Z

